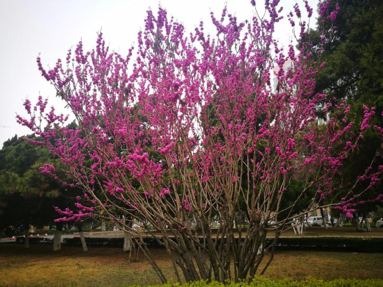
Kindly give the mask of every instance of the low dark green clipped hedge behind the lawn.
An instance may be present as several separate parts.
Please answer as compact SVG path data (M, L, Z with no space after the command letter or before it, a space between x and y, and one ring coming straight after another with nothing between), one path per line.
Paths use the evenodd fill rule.
M267 244L273 238L268 238ZM80 246L80 238L66 238L64 242L70 246ZM144 242L150 246L160 246L152 237L144 238ZM89 246L112 246L121 247L124 238L86 237ZM278 239L276 250L331 250L353 252L383 252L383 238L361 237L294 237Z

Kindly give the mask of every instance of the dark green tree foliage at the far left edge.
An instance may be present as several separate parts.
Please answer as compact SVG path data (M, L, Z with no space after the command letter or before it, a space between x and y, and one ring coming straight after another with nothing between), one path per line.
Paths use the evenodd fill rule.
M12 226L16 232L21 226L53 222L60 184L38 170L48 162L52 159L45 147L17 135L4 142L0 150L0 228Z

